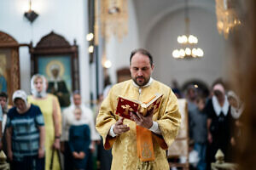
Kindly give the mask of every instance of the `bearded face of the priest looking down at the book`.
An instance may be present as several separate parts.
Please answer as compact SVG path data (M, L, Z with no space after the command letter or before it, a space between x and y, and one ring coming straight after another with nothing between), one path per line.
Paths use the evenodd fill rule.
M137 53L131 58L131 78L138 86L144 86L148 83L153 70L154 65L150 65L147 55Z

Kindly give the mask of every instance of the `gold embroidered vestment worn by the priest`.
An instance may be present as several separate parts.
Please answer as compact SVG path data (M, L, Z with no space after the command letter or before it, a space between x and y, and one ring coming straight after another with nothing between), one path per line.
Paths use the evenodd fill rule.
M160 109L153 116L153 121L157 122L161 131L161 136L152 133L154 147L154 161L140 161L137 156L137 127L136 123L128 119L124 124L130 127L126 133L112 138L108 135L110 127L119 120L115 115L118 97L125 96L128 99L136 99L142 102L148 100L154 94L164 94L160 104ZM180 125L180 113L177 107L177 98L172 89L161 82L153 82L142 88L135 87L132 80L120 82L111 88L108 97L103 100L101 109L96 118L96 130L102 135L105 149L112 149L113 161L112 170L135 170L135 169L161 169L169 170L166 159L166 150L177 136ZM147 145L144 146L147 148ZM150 154L148 150L143 150L144 154Z

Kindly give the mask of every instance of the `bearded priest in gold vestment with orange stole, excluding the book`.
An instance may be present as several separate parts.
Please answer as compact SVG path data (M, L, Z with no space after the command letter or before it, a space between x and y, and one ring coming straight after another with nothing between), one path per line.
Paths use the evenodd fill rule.
M112 170L169 170L166 150L172 144L180 125L177 98L172 89L152 77L151 54L145 49L131 52L132 80L111 88L96 118L96 129L102 135L104 148L112 149ZM148 116L131 114L131 120L115 114L118 97L146 102L154 94L163 94L160 109ZM154 114L154 115L153 115Z

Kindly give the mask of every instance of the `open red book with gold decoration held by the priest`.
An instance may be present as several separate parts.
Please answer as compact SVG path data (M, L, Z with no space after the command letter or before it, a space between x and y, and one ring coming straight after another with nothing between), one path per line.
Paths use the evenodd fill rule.
M143 103L119 96L115 114L131 120L130 113L136 114L137 111L143 116L147 116L152 110L156 113L159 110L162 97L163 94L155 94L148 99L148 102Z

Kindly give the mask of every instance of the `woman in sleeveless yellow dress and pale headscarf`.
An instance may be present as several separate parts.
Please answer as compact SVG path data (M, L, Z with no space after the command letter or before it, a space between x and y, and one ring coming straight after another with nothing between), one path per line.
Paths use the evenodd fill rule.
M42 75L34 75L31 80L32 96L28 96L29 103L38 105L44 116L45 123L45 170L53 160L53 169L60 169L57 153L52 157L53 149L60 149L61 137L61 107L53 94L47 94L47 81Z

